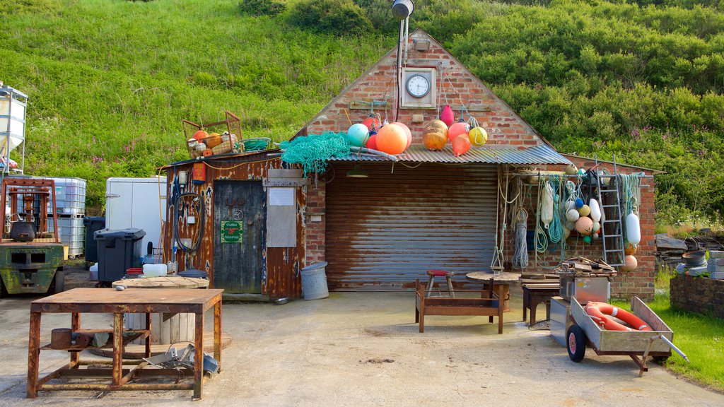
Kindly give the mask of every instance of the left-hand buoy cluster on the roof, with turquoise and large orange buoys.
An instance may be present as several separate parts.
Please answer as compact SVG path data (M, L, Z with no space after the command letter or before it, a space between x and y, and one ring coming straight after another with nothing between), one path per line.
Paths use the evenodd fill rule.
M347 130L350 146L366 147L387 154L402 154L412 143L410 128L400 122L382 125L378 119L368 117Z

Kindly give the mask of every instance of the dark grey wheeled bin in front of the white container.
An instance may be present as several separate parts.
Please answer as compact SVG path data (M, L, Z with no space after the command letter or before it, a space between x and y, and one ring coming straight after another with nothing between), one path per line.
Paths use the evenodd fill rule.
M93 234L98 244L98 280L121 280L127 269L141 267L141 240L146 232L137 228L98 230Z

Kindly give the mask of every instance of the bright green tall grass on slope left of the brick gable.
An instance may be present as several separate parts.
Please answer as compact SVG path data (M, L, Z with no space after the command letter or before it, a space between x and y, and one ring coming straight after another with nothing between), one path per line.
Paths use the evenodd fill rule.
M285 140L394 43L248 17L237 1L11 3L0 78L30 96L26 172L88 179L95 207L106 177L188 158L181 119L228 109L246 137Z

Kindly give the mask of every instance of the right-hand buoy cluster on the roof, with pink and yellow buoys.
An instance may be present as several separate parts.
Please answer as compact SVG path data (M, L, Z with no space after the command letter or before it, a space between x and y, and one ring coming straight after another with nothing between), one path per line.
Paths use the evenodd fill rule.
M446 109L449 107L445 106ZM443 109L443 113L445 113L445 109ZM488 133L483 127L471 127L466 122L455 122L447 125L442 120L444 117L445 115L441 114L441 119L432 120L425 125L422 135L422 143L425 148L440 150L445 147L449 139L450 143L452 143L452 154L460 156L466 154L471 146L480 147L487 143Z

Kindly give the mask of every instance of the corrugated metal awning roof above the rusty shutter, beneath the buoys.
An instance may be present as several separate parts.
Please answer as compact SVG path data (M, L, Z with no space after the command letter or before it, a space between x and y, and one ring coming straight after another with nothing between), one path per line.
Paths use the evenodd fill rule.
M425 146L413 144L405 153L397 156L399 161L410 162L449 162L449 163L487 163L487 164L572 164L550 146L541 144L530 148L473 147L461 156L452 155L452 147L445 146L440 151L430 151ZM387 161L386 158L371 154L349 154L332 157L329 161Z

